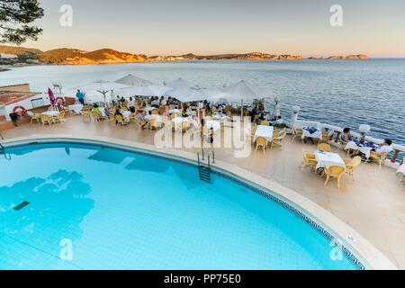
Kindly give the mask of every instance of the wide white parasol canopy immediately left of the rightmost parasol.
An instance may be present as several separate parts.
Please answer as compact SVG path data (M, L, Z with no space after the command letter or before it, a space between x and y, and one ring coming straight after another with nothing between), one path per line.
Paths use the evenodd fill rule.
M194 101L213 101L221 98L228 98L230 95L221 92L220 90L205 89L200 86L192 88L178 88L165 93L166 96L174 97L181 102L194 102Z

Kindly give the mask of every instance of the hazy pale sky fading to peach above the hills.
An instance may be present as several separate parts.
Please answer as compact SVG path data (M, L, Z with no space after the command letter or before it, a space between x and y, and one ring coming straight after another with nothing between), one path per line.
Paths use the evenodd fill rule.
M112 48L132 53L268 53L405 57L404 0L40 0L40 49ZM59 24L62 4L73 27ZM329 24L332 4L343 27Z

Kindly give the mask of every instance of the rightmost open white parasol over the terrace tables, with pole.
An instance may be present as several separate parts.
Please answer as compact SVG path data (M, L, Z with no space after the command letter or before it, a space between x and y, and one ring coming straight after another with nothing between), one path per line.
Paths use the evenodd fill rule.
M230 98L228 100L240 100L241 101L241 109L240 113L243 118L243 100L255 100L255 99L264 99L270 96L270 92L266 89L249 83L247 81L240 81L235 85L230 85L228 87L224 87L222 92L230 94Z

